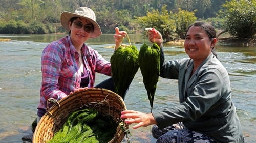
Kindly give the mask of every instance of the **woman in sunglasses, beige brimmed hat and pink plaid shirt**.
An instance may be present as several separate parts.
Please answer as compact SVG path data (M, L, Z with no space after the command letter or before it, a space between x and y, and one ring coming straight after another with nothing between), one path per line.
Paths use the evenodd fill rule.
M111 76L110 62L85 44L89 38L102 34L95 13L90 8L80 7L74 13L63 12L60 22L69 35L51 42L42 51L37 123L46 112L48 99L60 100L73 92L94 87L96 72ZM116 28L116 47L121 45L124 36L126 32ZM114 91L112 77L95 87Z

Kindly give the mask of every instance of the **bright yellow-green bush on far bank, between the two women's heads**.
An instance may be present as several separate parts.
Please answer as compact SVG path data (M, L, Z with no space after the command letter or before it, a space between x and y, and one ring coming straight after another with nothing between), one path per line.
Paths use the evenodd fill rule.
M176 13L168 12L166 7L163 5L161 12L152 10L152 12L147 12L146 16L136 17L136 22L142 28L156 28L166 39L166 42L172 40L173 37L184 39L186 28L197 19L195 13L181 9Z

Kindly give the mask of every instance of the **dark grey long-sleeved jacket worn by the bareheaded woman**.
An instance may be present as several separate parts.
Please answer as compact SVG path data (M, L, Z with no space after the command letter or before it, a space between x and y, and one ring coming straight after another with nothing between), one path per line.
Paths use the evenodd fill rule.
M160 76L178 79L180 104L154 113L157 125L164 128L183 122L217 142L244 142L224 66L211 53L190 77L192 70L193 60L165 61L162 50Z

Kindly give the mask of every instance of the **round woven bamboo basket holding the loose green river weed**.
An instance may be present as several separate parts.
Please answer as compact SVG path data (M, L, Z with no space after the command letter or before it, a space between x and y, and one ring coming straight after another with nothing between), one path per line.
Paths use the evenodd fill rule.
M84 108L97 109L103 116L111 116L116 123L124 122L120 113L126 110L123 99L116 93L99 88L91 88L67 96L56 102L42 116L33 134L33 143L47 142L67 121L71 112ZM128 129L128 125L124 124ZM117 126L116 133L109 143L120 143L125 131Z

